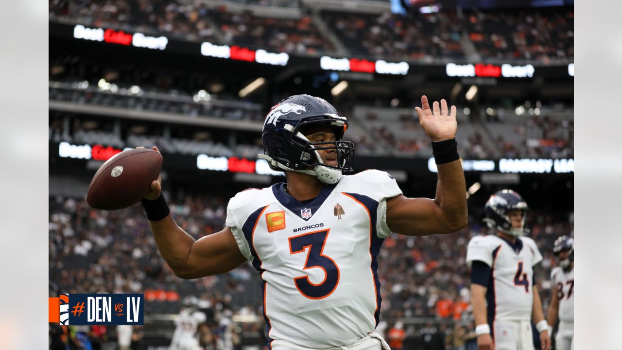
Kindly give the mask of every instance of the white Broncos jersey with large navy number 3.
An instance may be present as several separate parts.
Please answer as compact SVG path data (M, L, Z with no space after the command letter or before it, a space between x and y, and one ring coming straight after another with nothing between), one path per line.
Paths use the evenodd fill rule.
M299 202L285 184L239 192L226 225L263 281L270 339L307 348L351 344L378 325L378 253L391 234L386 199L401 194L384 171L342 176Z

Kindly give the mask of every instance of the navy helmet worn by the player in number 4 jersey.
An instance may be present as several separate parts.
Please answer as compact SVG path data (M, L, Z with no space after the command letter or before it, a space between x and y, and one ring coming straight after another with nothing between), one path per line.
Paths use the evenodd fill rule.
M522 226L520 228L512 227L512 221L508 217L508 212L512 210L522 211ZM521 195L511 189L502 189L495 192L484 207L486 218L484 221L488 227L496 228L508 235L518 237L519 235L529 232L526 227L527 222L527 202Z

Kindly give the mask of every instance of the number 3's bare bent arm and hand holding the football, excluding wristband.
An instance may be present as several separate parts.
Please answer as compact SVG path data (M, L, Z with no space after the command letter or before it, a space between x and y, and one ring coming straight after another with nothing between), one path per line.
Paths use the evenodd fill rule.
M156 201L161 194L162 179L158 177L145 199ZM246 261L229 227L199 240L182 230L170 214L149 220L149 227L160 254L177 277L190 279L228 272Z

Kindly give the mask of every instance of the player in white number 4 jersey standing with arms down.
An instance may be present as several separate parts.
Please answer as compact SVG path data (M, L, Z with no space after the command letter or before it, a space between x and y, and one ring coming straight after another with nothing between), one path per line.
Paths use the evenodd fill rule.
M542 349L550 346L533 267L542 255L525 237L527 203L509 189L496 192L485 206L485 221L496 235L476 236L466 249L471 269L471 304L480 350L533 350L531 321Z

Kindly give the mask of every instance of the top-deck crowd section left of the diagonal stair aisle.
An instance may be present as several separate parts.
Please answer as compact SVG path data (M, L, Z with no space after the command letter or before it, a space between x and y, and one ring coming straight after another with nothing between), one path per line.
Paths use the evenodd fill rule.
M295 1L249 1L259 5L285 6ZM233 13L226 6L210 8L204 2L159 1L50 1L52 21L70 21L96 27L159 33L187 40L215 40L250 45L295 54L315 54L333 50L311 17L284 19L254 16L246 11Z

